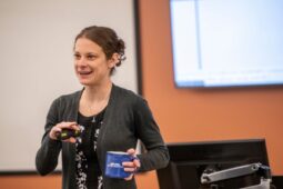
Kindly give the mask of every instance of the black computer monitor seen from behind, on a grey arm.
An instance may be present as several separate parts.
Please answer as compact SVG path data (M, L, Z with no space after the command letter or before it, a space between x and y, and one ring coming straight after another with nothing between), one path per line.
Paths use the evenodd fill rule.
M208 168L223 170L232 167L261 162L269 166L264 139L222 140L186 143L168 143L170 163L159 169L160 189L200 189L201 175ZM224 180L223 189L256 185L255 175Z

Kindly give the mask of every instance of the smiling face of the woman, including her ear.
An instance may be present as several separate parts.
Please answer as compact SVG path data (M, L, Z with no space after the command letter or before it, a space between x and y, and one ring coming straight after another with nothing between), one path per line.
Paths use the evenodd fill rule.
M110 80L110 70L115 66L115 56L107 59L95 42L79 38L74 44L74 70L83 86L100 86Z

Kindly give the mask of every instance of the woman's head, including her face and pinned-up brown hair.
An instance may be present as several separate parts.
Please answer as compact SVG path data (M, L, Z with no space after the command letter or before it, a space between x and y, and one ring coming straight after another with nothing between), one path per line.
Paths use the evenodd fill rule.
M124 41L119 39L117 33L109 28L89 27L75 38L74 69L81 84L85 79L87 82L88 79L93 82L102 79L107 82L115 67L119 67L124 60L123 57ZM109 73L105 74L105 72ZM100 78L101 76L104 78Z

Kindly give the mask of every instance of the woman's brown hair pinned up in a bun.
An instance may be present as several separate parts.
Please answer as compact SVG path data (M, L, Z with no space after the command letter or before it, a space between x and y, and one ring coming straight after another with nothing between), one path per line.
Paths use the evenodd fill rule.
M110 59L115 52L119 53L120 59L119 62L115 64L117 67L121 66L122 61L125 59L124 41L120 39L117 36L115 31L111 28L91 26L81 30L81 32L75 37L74 43L79 38L87 38L99 44L105 53L107 59ZM111 70L110 74L112 74L114 68Z

